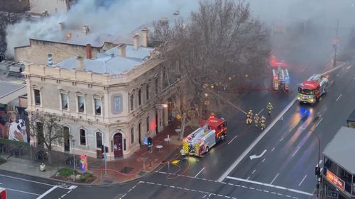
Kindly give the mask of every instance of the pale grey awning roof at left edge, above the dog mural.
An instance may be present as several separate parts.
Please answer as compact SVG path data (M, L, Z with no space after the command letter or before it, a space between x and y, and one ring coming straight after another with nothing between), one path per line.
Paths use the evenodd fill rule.
M20 82L0 81L0 103L7 104L27 93L26 84Z

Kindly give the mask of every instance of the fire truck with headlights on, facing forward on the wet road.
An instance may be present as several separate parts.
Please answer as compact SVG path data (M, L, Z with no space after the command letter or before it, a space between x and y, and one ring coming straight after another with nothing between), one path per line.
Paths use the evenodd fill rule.
M313 74L310 79L303 81L298 87L297 100L301 103L311 103L312 105L327 92L329 76Z

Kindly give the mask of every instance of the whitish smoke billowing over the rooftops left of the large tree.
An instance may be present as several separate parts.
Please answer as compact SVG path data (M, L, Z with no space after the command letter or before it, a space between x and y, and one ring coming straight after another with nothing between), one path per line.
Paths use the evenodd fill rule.
M29 38L58 40L58 23L80 29L89 25L94 33L128 36L139 26L151 25L161 17L173 18L174 11L187 17L198 8L197 0L81 0L67 13L58 13L38 21L21 21L6 28L6 55L13 57L13 47L29 45ZM131 35L129 35L131 36Z

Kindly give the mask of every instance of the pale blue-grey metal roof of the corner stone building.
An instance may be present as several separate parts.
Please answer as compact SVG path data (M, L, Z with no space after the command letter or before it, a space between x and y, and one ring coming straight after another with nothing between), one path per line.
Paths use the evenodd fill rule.
M118 48L113 47L93 59L84 59L84 69L99 74L122 74L145 62L150 57L151 51L153 51L152 47L138 47L138 50L135 50L133 45L126 45L126 56L121 57L118 55ZM70 57L56 66L63 69L77 69L77 58Z

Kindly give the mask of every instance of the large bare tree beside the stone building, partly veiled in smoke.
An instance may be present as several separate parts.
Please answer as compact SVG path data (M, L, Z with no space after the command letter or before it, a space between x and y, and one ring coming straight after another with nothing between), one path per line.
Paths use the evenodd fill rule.
M180 79L175 88L185 98L180 108L182 136L189 111L196 110L193 115L202 118L203 110L221 110L251 79L266 74L268 33L244 1L200 1L188 23L178 17L171 28L165 20L153 26L152 44L160 52L168 81Z

